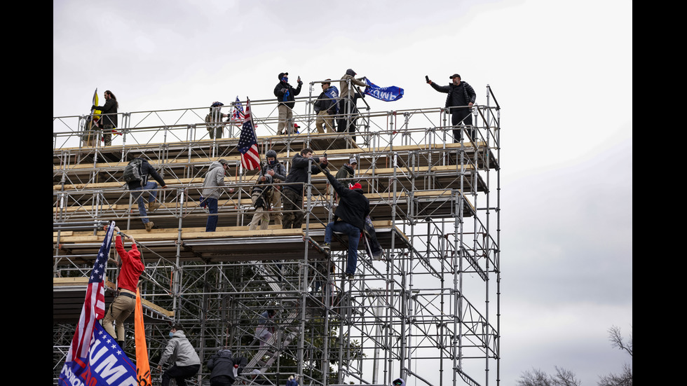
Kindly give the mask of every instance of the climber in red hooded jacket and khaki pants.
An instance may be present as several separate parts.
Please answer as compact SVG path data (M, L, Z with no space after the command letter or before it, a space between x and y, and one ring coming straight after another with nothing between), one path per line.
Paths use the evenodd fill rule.
M124 345L124 321L134 312L136 308L136 287L138 278L145 270L141 252L136 247L136 240L127 236L131 240L131 249L126 251L122 244L121 232L118 227L114 227L117 233L115 248L121 259L121 269L117 277L117 296L110 304L105 316L102 318L102 328L109 333L112 338L117 340L120 347ZM114 328L116 323L116 333Z

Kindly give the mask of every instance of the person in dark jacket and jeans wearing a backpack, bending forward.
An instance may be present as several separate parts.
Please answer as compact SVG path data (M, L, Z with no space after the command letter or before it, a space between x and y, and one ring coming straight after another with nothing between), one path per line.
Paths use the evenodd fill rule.
M160 177L160 174L156 172L154 167L152 167L147 160L144 158L134 158L128 165L124 168L124 181L127 184L130 191L133 191L133 199L138 204L138 212L141 216L141 221L143 221L146 226L146 230L150 232L155 226L153 221L148 219L148 213L146 212L146 205L143 200L143 191L148 191L148 209L153 212L155 209L160 207L160 202L157 200L158 187L155 181L148 181L148 177L152 176L155 181L158 181L160 186L163 188L167 187L165 180ZM140 192L138 192L140 191Z

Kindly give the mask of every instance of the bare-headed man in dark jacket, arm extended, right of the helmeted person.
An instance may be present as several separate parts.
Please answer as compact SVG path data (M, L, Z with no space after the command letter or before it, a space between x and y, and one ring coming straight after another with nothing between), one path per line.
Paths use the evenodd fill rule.
M313 165L308 169L310 164L309 158L313 159ZM291 160L291 169L286 176L284 186L282 189L282 200L284 202L284 219L282 223L283 229L301 228L303 225L303 183L308 182L308 171L311 174L318 174L321 169L327 168L327 157L321 158L322 163L318 166L316 163L320 162L320 158L313 157L312 149L303 149L301 153L296 154ZM296 183L296 184L294 184Z

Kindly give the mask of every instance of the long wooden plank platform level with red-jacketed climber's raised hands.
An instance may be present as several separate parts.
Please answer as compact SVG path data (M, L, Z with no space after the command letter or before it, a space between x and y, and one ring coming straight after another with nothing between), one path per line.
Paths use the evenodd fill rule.
M408 238L391 221L373 221L377 238L385 249L411 247ZM177 250L182 261L268 261L309 259L325 257L320 244L324 241L325 226L313 223L306 235L305 226L299 229L282 229L270 226L266 230L248 230L245 226L219 227L216 232L205 232L205 228L123 230L144 244L144 259L161 257L176 261ZM53 232L53 247L60 255L53 257L57 266L70 263L92 263L95 260L104 231L97 232ZM59 244L58 244L59 242ZM334 250L347 249L345 244L333 244ZM362 246L360 247L362 249ZM150 253L152 252L152 253ZM62 257L63 256L63 257Z

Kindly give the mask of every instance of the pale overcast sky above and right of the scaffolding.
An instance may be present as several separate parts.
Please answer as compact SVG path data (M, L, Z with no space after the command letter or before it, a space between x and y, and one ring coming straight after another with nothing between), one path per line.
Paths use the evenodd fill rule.
M376 111L443 106L426 75L496 94L503 384L631 364L607 331L632 331L631 1L53 1L53 116L95 88L120 112L181 109L348 68L404 88Z

